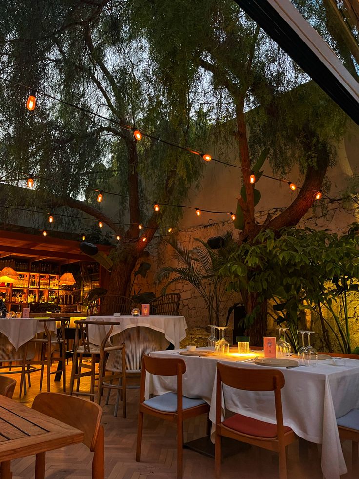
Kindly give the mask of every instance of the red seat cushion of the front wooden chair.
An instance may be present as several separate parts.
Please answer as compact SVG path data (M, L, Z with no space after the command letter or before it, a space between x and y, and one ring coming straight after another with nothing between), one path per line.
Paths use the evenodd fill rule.
M255 437L265 437L266 439L274 439L277 437L277 424L270 424L269 422L259 421L252 417L235 414L224 420L222 424L229 429L238 431L242 434ZM291 428L284 426L284 433L289 433Z

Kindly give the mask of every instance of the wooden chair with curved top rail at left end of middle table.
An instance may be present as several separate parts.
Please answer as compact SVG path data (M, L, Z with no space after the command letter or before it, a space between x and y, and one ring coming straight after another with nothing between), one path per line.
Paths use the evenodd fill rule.
M109 337L111 336L113 327L120 324L119 322L112 321L85 321L77 320L75 323L75 341L74 341L74 356L72 359L71 377L70 377L70 395L76 396L90 396L91 401L98 396L95 393L95 380L98 373L96 373L96 360L100 361L101 351L103 352L107 344ZM110 326L108 332L104 336L100 346L97 344L91 344L89 341L88 327L90 324ZM83 358L90 358L90 364L83 361ZM77 367L77 361L79 358L79 364ZM102 361L103 364L103 361ZM82 369L87 371L82 372ZM89 370L89 371L88 371ZM90 376L90 392L79 392L80 379L82 377ZM74 391L74 382L77 380L76 391Z

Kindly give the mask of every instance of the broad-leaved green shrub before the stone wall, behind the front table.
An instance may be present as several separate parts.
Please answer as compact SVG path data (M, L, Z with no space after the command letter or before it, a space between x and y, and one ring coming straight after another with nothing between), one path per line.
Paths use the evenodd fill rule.
M230 288L258 293L258 306L263 300L275 303L278 323L286 321L297 344L297 320L306 308L317 312L324 339L329 328L342 351L351 351L348 291L358 291L359 236L353 227L340 238L336 234L313 229L282 229L259 233L253 243L243 243L219 271L230 279ZM334 303L341 301L344 315L339 317ZM253 321L257 309L247 316ZM329 324L326 310L333 318ZM327 344L328 347L330 343Z

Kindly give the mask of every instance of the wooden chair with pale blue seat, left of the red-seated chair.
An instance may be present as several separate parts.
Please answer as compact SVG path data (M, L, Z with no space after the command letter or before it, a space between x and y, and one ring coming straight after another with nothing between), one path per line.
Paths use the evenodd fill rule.
M146 371L161 376L177 376L177 394L165 393L145 400ZM162 359L143 356L140 386L139 421L137 429L136 461L141 460L143 415L150 414L177 424L177 478L183 474L183 421L190 417L209 413L209 405L203 399L183 396L182 376L186 372L183 359Z

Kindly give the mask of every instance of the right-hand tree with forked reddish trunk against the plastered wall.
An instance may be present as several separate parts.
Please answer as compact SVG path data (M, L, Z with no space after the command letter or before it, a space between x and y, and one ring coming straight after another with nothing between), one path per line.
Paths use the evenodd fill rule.
M220 133L217 140L232 147L235 142L242 172L233 185L238 192L239 244L251 242L262 229L296 225L312 206L334 160L332 144L345 124L339 108L313 82L305 83L308 79L298 66L234 2L168 0L137 5L134 21L145 32L152 57L162 69L168 65L168 71L168 58L181 50L180 71L196 71L198 97L212 114ZM260 193L251 184L250 173L265 148L277 174L284 176L297 164L304 180L288 208L259 224L255 205ZM248 292L245 285L241 294L250 314L258 294ZM263 301L252 329L257 342L265 333L266 318Z

